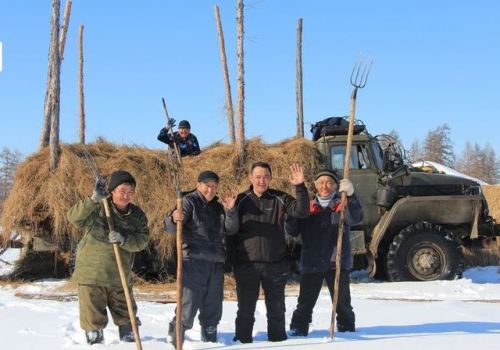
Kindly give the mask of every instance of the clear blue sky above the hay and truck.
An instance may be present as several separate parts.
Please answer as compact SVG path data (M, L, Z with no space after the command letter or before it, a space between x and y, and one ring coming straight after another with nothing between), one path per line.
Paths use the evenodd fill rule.
M64 10L61 4L61 13ZM77 37L85 25L87 140L163 148L170 115L202 146L227 142L214 20L221 11L236 104L236 0L74 0L61 75L61 140L78 139ZM360 52L374 66L357 117L372 134L398 131L409 147L448 123L465 141L500 152L500 2L245 1L246 137L295 134L296 28L303 18L304 119L346 115ZM50 0L0 3L0 148L37 150L47 75Z

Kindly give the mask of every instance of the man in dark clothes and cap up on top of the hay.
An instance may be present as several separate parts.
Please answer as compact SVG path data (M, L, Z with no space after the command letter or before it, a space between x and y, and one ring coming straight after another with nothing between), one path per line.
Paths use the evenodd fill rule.
M196 156L200 154L200 144L198 139L191 133L191 124L187 120L181 120L179 122L179 128L170 134L170 129L175 126L175 120L170 119L166 128L160 130L158 135L158 140L166 143L171 148L174 147L174 141L179 145L179 151L181 152L181 157L185 156Z

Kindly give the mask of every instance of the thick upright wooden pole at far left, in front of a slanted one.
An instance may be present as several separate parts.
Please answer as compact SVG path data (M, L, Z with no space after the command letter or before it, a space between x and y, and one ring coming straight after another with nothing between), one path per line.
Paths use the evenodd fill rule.
M59 96L60 85L59 75L61 60L59 56L59 7L60 0L52 0L52 20L50 35L50 55L49 70L52 72L49 81L49 115L50 115L50 171L54 172L57 168L59 159Z

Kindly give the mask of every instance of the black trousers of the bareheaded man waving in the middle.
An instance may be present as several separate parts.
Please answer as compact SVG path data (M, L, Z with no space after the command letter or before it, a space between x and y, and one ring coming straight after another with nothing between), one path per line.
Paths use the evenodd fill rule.
M287 338L285 330L285 284L287 263L246 263L234 269L238 312L235 321L235 340L242 343L253 341L255 307L260 286L264 290L267 311L267 338L282 341Z

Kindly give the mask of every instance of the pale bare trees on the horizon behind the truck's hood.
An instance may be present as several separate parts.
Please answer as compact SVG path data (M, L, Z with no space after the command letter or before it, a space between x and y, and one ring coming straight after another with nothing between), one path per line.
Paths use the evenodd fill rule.
M462 153L457 157L450 138L450 131L450 126L444 123L429 130L423 141L414 140L406 151L408 162L432 161L489 184L499 183L500 158L496 155L493 147L488 143L481 146L477 142L467 141ZM391 130L389 135L403 144L395 130Z

